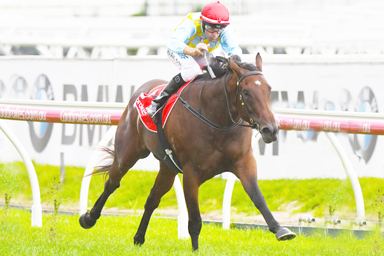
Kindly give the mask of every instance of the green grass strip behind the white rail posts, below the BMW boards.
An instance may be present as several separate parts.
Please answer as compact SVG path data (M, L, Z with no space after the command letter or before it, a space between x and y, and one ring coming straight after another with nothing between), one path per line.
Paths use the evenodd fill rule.
M58 166L35 164L35 169L42 205L52 206L54 200L58 200L61 206L78 207L83 167L67 166L66 180L63 184L59 184ZM1 174L6 174L3 176L8 178L2 180ZM123 177L120 187L110 196L105 207L143 209L156 175L156 172L130 170ZM221 212L225 182L222 179L211 179L200 187L199 204L202 214L214 210ZM359 178L359 182L364 196L366 216L368 219L377 219L378 212L384 212L383 179ZM260 180L259 185L271 211L311 212L313 216L323 217L325 211L332 205L348 218L356 212L353 190L348 179ZM92 177L88 207L93 206L103 187L102 176ZM15 201L32 202L31 186L23 163L0 164L0 202L4 202L5 193L12 196L11 204ZM260 214L239 181L234 185L231 207L232 214L248 216ZM162 198L159 209L177 209L174 189Z

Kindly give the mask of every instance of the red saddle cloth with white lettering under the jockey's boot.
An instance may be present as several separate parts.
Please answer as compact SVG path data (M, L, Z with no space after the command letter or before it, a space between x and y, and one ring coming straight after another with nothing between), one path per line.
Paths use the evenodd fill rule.
M180 94L188 84L189 82L184 84L184 86L182 86L177 91L177 93ZM155 133L157 133L156 124L153 122L152 117L148 116L148 113L146 112L145 108L151 104L152 100L155 98L154 96L159 95L165 86L166 84L161 84L160 86L155 87L148 93L148 95L146 95L145 93L141 93L140 96L137 97L134 105L134 108L136 108L137 112L139 113L141 122L144 124L146 129ZM164 128L165 122L168 119L170 111L172 111L177 99L178 97L176 94L170 96L167 103L164 106L163 116L162 116L163 128Z

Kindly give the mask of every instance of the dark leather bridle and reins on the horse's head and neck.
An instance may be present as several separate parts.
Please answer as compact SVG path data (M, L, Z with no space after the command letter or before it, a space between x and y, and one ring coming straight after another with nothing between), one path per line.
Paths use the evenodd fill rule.
M211 126L212 128L215 128L215 129L220 130L220 131L228 131L228 130L232 130L232 129L236 128L237 126L245 126L245 127L250 127L251 129L255 129L255 130L260 132L260 125L258 123L256 123L256 122L254 122L253 118L251 117L251 115L250 115L250 113L248 111L247 105L245 104L245 101L243 99L243 96L242 96L241 90L240 90L240 83L247 76L250 76L250 75L263 75L263 73L260 72L260 71L257 71L257 70L249 71L249 72L245 73L244 75L242 75L240 78L238 78L238 81L237 81L236 105L237 105L238 99L240 99L241 105L243 106L243 108L245 109L245 112L248 115L248 121L249 121L250 125L249 124L242 124L242 122L243 122L242 118L240 118L240 120L238 122L235 122L233 120L233 118L232 118L232 114L231 114L230 106L229 106L228 93L227 93L227 88L226 88L226 83L225 83L225 80L227 78L228 73L229 73L229 71L227 73L225 73L224 81L223 81L223 86L224 86L224 93L225 93L225 98L226 98L226 102L227 102L227 110L228 110L229 118L230 118L231 122L233 123L233 125L231 125L231 126L225 127L225 126L220 126L220 125L217 125L217 124L211 122L209 119L207 119L205 116L203 116L201 114L201 111L198 112L191 105L189 105L188 102L183 100L178 93L176 93L176 95L179 98L179 100L181 101L181 103L185 106L185 108L189 112L194 114L197 118L199 118L200 120L202 120L203 122L205 122L206 124ZM203 87L204 87L204 85L205 85L205 83L203 84ZM239 97L237 97L238 95L239 95ZM200 96L201 96L201 91L200 91Z

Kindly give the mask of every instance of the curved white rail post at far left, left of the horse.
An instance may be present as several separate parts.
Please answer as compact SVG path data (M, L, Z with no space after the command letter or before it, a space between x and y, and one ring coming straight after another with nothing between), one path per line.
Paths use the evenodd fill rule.
M16 135L14 135L9 129L9 127L5 124L4 120L0 119L0 129L4 132L4 134L8 137L8 139L12 142L12 144L16 147L16 150L22 157L24 164L27 168L29 181L31 183L32 189L32 218L31 225L32 227L41 227L42 226L42 208L41 208L41 198L40 198L40 187L39 182L36 175L35 167L33 166L32 160L29 157L26 149L23 144L18 140Z

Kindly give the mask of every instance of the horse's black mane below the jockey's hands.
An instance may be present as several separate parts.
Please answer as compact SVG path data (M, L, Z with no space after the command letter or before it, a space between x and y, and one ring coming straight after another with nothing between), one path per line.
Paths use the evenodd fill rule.
M247 63L247 62L241 62L240 57L238 55L233 55L232 56L232 60L240 68L244 68L244 69L247 69L249 71L256 70L256 66L254 66L253 64ZM214 71L216 77L221 77L221 76L223 76L227 72L232 72L232 69L230 68L229 60L227 58L224 58L224 57L221 57L221 56L217 56L215 58L210 58L209 66ZM208 73L208 68L207 67L203 68L203 72L204 73L201 74L201 75L198 75L197 78L200 78L200 77L201 78L210 77L210 75Z

